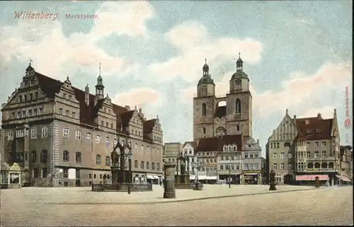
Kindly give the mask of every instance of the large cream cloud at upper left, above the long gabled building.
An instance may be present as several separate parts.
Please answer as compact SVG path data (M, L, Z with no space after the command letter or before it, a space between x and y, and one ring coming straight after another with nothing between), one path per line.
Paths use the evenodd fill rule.
M6 62L31 58L36 71L55 78L74 76L77 69L98 72L98 62L102 62L102 74L123 75L135 63L110 56L96 41L112 33L146 37L144 23L153 16L152 6L147 1L104 2L96 14L99 18L90 33L69 37L59 21L21 20L1 27L0 57Z

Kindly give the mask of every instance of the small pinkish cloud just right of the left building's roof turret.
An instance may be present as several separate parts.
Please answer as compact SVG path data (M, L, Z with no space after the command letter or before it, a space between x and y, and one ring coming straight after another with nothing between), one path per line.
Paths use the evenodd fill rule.
M135 105L140 107L146 103L149 105L159 105L161 103L161 95L152 88L134 88L125 93L119 93L112 98L112 102L118 105L130 105L134 108Z

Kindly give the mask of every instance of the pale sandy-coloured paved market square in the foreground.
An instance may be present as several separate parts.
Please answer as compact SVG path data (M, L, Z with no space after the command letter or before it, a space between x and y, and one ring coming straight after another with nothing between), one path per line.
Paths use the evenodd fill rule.
M219 190L215 191L219 191L219 196L222 196L226 192L223 189L224 186L214 185L214 188L209 188L209 193L212 194L211 191L219 187ZM246 187L249 187L249 190L246 190ZM285 187L289 186L283 188ZM237 191L236 188L233 189L235 192ZM246 190L257 193L256 188L257 186L242 186L239 187L238 192ZM258 193L261 193L264 189L265 187L259 185ZM157 194L158 189L156 188L154 191ZM183 193L185 195L193 193L191 190L188 191L178 190L177 194L181 196ZM246 194L246 191L244 194ZM86 194L86 197L84 197L84 194ZM110 197L106 197L106 194L110 194ZM137 194L131 194L130 199L137 197ZM81 195L81 199L78 195ZM113 201L117 198L127 198L127 196L117 192L86 192L82 188L1 190L1 225L234 226L353 224L353 187L334 187L321 190L302 190L173 203L156 203L153 197L148 196L145 196L145 201L151 200L154 203L120 204ZM105 198L103 199L105 203L102 204L103 202L98 201L98 197ZM120 199L120 202L125 200L127 199Z

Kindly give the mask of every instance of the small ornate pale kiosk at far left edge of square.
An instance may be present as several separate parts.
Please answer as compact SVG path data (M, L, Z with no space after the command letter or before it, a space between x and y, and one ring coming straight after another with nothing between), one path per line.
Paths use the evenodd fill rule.
M8 163L4 163L4 165L1 166L0 188L21 188L21 168L18 163L13 163L11 166L8 165Z

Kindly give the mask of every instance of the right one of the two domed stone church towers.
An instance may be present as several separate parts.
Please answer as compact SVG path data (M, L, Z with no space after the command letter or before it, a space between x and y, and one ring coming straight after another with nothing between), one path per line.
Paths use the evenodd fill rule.
M249 76L244 72L244 62L236 61L236 72L229 81L227 103L227 134L252 136L252 95L249 91Z

